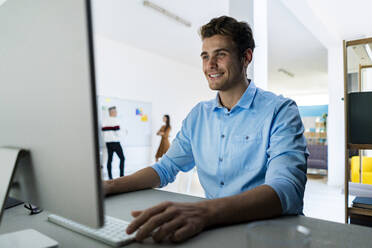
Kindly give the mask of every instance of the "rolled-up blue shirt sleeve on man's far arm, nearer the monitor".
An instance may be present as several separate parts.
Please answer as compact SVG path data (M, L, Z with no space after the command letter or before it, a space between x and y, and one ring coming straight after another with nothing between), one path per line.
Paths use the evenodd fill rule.
M160 186L164 187L175 180L179 171L187 172L195 166L190 134L193 118L192 112L182 122L182 128L177 133L169 150L152 168L160 177Z

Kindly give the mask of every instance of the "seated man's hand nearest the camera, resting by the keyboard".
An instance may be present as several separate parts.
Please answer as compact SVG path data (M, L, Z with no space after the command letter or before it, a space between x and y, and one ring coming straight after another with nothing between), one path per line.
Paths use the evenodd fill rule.
M136 240L152 236L154 241L169 239L182 242L205 229L211 220L211 210L206 201L199 203L163 202L143 211L133 211L135 219L127 233L137 231Z

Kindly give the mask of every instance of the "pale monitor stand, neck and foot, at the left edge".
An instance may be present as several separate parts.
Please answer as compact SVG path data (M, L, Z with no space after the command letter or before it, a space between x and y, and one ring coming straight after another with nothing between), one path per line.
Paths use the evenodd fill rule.
M24 152L18 148L0 147L0 221L19 158ZM52 248L58 247L58 243L36 230L27 229L1 234L0 247Z

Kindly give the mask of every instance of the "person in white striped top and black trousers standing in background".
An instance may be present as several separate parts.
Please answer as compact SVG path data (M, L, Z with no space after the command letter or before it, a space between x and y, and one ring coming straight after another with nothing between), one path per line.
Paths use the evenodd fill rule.
M108 109L109 117L106 118L103 122L102 132L103 138L106 143L107 153L108 153L108 160L107 160L107 172L109 179L112 179L112 172L111 172L111 163L112 157L114 152L118 155L120 159L120 176L124 176L124 162L125 157L123 153L123 149L120 145L120 125L119 121L117 120L117 111L116 107L112 106Z

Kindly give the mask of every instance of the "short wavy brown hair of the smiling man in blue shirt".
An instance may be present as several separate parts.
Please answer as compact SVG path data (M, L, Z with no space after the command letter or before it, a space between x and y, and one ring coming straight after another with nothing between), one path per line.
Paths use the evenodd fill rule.
M202 39L219 34L224 35L235 43L238 48L239 56L243 56L247 49L255 48L252 29L246 22L238 22L229 16L220 16L213 18L207 24L203 25L200 30Z

